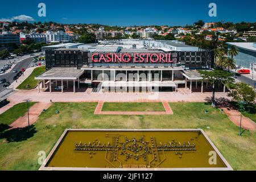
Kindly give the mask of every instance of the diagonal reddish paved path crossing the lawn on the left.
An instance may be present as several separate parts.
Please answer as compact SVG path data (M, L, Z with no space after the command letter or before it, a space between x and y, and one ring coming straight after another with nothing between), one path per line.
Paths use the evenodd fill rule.
M39 115L42 113L43 109L48 109L49 106L51 106L51 103L36 103L32 107L30 107L29 110L29 117L30 117L30 125L34 124L38 118ZM27 127L28 126L28 118L27 118L27 113L23 115L23 117L20 117L16 119L13 123L11 123L10 127L15 129L15 128L22 128L22 127Z

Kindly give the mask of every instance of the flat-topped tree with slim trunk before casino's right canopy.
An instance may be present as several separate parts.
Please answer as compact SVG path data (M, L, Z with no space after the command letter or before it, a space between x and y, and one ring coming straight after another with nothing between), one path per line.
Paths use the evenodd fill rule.
M215 107L215 85L230 84L234 81L233 74L223 71L221 69L214 69L213 71L199 71L203 80L209 81L212 85L212 106Z

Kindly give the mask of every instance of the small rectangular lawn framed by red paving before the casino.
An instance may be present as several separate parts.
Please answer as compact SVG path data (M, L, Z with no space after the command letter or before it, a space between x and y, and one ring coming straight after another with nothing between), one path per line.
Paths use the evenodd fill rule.
M105 102L102 111L165 111L162 102Z

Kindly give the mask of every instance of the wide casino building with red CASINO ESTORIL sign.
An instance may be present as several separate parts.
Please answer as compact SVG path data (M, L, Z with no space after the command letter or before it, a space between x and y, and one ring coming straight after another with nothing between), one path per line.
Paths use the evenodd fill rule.
M40 90L79 92L176 92L199 89L197 69L209 69L213 54L180 42L156 40L108 40L100 44L77 44L76 48L46 48L47 71L35 77Z

